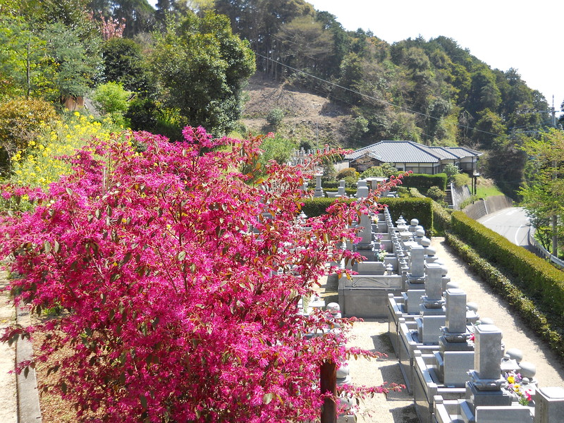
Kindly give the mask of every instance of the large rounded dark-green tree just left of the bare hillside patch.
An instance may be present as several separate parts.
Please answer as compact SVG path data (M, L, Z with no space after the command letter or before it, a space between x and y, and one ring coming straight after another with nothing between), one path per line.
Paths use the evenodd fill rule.
M157 37L152 68L166 104L190 125L226 133L241 111L243 82L255 72L247 42L233 35L225 16L189 13Z

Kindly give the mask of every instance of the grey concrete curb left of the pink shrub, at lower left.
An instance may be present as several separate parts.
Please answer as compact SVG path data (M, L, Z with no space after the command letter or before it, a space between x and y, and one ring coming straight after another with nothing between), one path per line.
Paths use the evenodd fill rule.
M22 326L30 325L30 313L23 307L18 307L16 323ZM28 339L18 339L16 343L16 365L26 360L31 360L33 350ZM30 367L27 377L23 372L16 375L16 386L18 389L18 422L32 423L42 422L41 409L39 407L39 391L37 391L37 377L35 369Z

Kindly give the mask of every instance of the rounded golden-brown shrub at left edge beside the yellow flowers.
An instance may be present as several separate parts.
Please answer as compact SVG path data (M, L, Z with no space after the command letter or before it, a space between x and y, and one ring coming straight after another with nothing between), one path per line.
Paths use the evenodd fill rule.
M0 170L7 173L11 157L25 156L35 137L57 117L54 106L39 99L17 97L0 104Z

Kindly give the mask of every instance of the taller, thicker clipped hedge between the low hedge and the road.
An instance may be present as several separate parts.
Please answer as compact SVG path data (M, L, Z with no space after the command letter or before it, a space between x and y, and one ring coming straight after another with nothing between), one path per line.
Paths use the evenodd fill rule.
M515 283L543 309L564 317L564 272L470 219L453 212L451 231L474 247L484 259L512 274Z

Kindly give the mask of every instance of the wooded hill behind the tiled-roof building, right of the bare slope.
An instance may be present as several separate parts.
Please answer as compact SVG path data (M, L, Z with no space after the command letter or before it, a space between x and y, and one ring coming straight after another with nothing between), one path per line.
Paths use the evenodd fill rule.
M508 192L522 182L525 134L550 125L548 104L517 70L491 69L447 36L388 44L345 31L301 0L216 0L248 39L260 72L322 94L350 112L346 145L415 140L486 152L482 171ZM487 157L496 157L489 164Z

